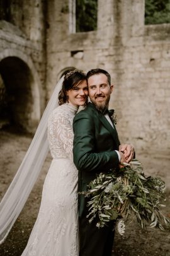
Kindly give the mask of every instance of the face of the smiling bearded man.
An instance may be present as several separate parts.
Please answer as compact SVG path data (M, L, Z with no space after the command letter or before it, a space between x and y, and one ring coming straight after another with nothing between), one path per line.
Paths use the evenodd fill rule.
M108 83L108 78L105 74L93 74L88 79L89 98L96 105L96 108L103 110L108 108L110 95L113 91L113 85Z

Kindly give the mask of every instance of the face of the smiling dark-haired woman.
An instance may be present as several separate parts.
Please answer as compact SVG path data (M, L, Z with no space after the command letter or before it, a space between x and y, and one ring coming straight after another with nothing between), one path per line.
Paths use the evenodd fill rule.
M88 84L86 80L74 85L74 87L67 91L68 102L74 106L82 106L88 98Z

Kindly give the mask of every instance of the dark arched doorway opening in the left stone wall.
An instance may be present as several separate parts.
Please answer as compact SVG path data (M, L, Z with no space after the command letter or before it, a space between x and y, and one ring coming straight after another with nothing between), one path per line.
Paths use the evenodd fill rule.
M29 131L32 80L29 67L18 57L6 57L0 62L0 129Z

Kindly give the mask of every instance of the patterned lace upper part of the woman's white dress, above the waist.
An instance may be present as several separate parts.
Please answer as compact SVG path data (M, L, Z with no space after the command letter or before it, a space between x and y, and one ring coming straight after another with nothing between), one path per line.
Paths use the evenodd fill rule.
M62 111L55 111L48 120L48 141L52 157L69 157L73 160L74 133L72 119Z

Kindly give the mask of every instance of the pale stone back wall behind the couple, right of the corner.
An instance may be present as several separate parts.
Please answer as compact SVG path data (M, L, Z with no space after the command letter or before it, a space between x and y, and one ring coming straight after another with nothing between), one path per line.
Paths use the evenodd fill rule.
M52 4L53 2L53 4ZM98 1L98 30L69 33L69 1L50 1L47 88L69 67L101 67L115 84L115 108L122 142L147 151L170 149L170 25L144 25L144 1ZM53 13L56 13L55 18ZM59 31L60 28L60 31ZM48 95L48 96L49 96Z

